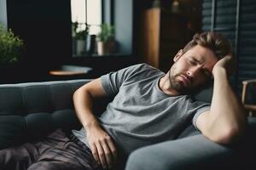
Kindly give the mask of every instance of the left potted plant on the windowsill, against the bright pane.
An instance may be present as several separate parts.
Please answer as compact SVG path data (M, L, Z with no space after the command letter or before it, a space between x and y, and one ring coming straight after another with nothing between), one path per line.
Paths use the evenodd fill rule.
M89 27L85 23L85 28L81 29L79 27L78 22L73 23L73 38L76 43L76 53L75 54L85 54L85 48L86 48L86 37L88 36L88 30Z

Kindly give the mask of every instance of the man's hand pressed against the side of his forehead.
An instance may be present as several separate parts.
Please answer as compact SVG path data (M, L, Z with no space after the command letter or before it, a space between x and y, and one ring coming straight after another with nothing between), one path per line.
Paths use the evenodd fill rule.
M232 54L226 55L223 59L219 59L218 62L214 65L212 69L213 76L216 74L219 70L225 70L230 74L234 70L234 59L232 57Z

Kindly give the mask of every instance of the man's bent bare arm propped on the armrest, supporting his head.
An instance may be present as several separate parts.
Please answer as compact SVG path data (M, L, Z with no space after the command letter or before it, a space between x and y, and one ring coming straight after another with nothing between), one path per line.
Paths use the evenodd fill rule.
M226 67L230 60L231 56L228 55L214 65L211 109L196 120L201 133L219 144L234 142L244 131L246 124L245 111L228 81Z

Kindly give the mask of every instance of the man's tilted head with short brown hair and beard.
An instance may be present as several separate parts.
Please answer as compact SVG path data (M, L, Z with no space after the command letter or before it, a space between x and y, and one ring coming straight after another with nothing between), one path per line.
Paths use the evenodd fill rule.
M168 72L171 88L179 94L189 94L212 77L218 59L230 54L230 42L216 32L195 34L193 39L174 57Z

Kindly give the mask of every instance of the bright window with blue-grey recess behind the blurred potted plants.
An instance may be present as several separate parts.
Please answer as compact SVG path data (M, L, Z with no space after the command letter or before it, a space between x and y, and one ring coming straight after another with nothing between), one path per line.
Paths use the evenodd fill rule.
M84 54L85 56L101 55L97 49L101 45L99 46L97 42L90 43L90 40L95 39L95 36L92 38L91 35L100 32L99 26L103 23L113 26L114 30L114 43L111 45L113 50L109 50L111 52L108 51L106 55L132 54L133 0L70 0L70 2L73 23L73 57L84 56ZM87 44L83 44L84 42L79 41L79 37L84 37L86 26L88 26L89 36L87 37L89 38L86 40ZM91 44L95 46L90 48ZM85 50L83 46L86 47Z

